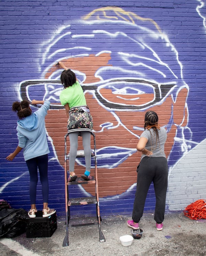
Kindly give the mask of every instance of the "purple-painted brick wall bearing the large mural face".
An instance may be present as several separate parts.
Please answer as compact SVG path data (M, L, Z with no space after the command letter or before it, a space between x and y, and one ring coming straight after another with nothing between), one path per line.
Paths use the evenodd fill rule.
M168 131L167 209L182 210L206 198L205 4L197 0L1 1L0 198L14 208L30 209L22 152L13 162L5 160L18 145L11 105L21 99L49 99L49 205L64 214L67 118L56 105L62 70L55 63L60 60L76 73L93 116L103 215L132 212L140 161L135 148L150 109L157 111L160 125ZM84 170L84 162L77 162L76 174L81 176ZM70 193L93 191L85 185ZM42 207L40 183L37 206ZM154 207L151 184L145 210ZM87 208L94 212L92 206ZM77 214L84 210L75 208Z

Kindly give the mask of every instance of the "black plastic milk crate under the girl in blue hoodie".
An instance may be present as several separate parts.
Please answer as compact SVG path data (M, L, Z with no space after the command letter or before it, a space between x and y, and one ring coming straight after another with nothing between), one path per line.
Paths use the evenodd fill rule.
M42 211L37 211L35 218L26 217L26 237L51 237L57 229L56 212L48 217L42 217Z

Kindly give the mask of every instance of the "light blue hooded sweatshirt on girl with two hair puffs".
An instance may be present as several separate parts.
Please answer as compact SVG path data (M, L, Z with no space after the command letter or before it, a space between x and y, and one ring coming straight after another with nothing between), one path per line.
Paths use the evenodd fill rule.
M45 100L41 108L17 121L19 147L24 148L25 161L49 153L45 128L45 116L49 106L50 102Z

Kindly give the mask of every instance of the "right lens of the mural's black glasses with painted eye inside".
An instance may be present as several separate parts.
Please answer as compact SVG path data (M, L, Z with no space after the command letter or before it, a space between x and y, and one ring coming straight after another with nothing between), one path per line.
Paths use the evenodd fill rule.
M112 79L96 85L96 98L114 110L143 109L158 104L175 84L157 84L143 79Z

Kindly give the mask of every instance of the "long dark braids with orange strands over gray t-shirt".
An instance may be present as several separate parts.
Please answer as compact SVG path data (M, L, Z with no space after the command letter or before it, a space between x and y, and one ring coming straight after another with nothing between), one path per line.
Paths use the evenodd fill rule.
M144 128L146 130L148 126L152 126L152 129L154 130L154 138L156 135L156 146L157 146L157 141L159 141L159 133L158 133L157 125L158 125L157 113L155 111L147 111L147 113L145 114Z

